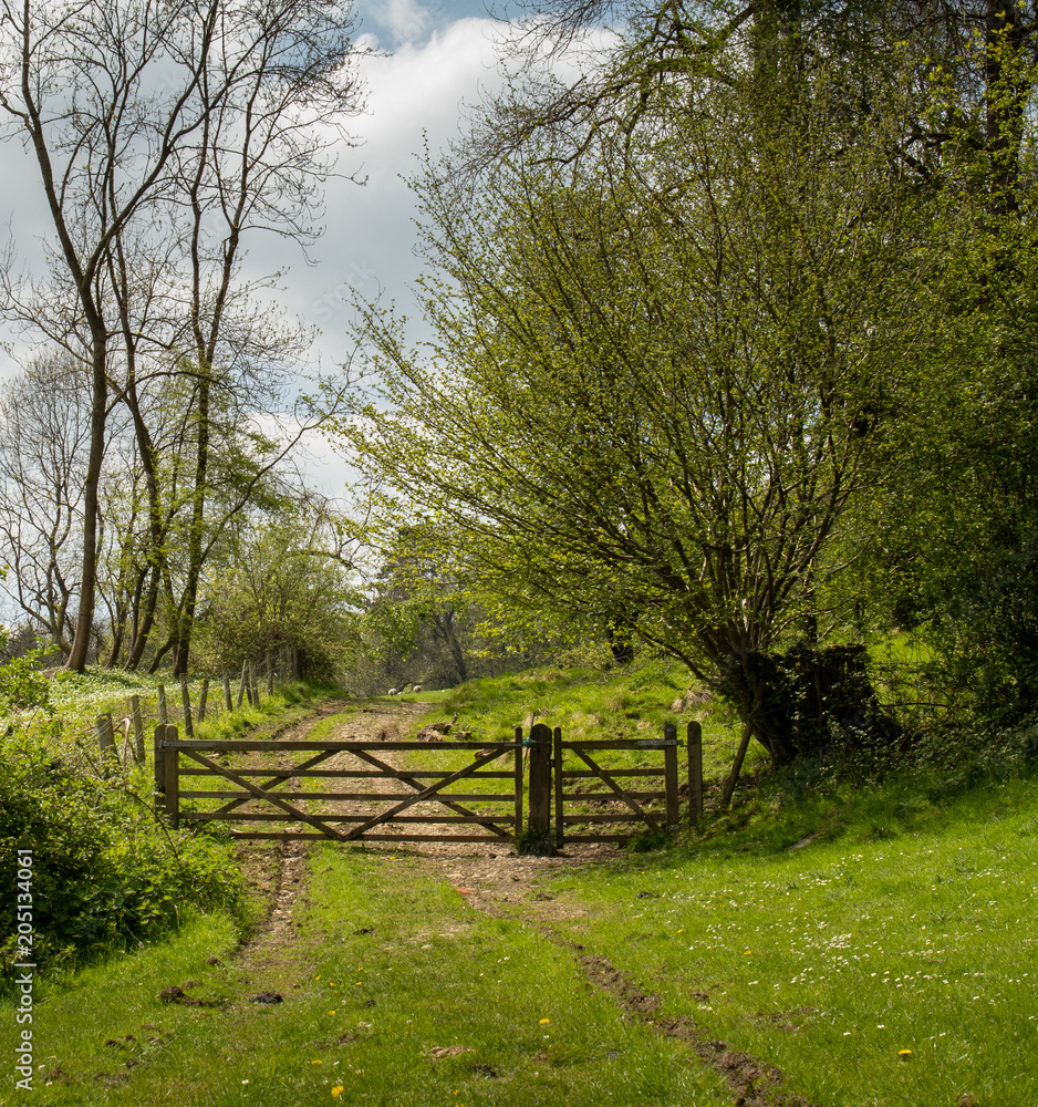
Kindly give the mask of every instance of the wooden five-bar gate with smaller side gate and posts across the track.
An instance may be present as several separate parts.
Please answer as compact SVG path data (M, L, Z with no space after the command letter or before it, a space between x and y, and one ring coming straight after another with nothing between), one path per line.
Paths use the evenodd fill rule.
M688 724L687 738L688 818L695 823L703 803L697 723ZM564 741L561 730L538 724L528 736L517 727L512 741L478 745L181 739L175 726L159 724L156 806L173 826L225 824L237 838L504 845L525 828L526 799L526 828L542 830L557 846L624 841L678 828L679 745L672 725L662 738ZM416 751L428 764L393 763L394 755ZM615 751L633 751L641 763L610 767L604 759ZM653 751L662 762L645 763ZM412 832L423 825L438 832Z

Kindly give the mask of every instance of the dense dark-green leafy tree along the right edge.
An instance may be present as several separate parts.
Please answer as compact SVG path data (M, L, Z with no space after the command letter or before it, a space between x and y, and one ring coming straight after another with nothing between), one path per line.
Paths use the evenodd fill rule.
M997 210L986 157L965 147L953 168L931 208L927 327L903 362L881 544L863 568L931 651L940 715L1018 716L1038 708L1038 195L1027 158Z

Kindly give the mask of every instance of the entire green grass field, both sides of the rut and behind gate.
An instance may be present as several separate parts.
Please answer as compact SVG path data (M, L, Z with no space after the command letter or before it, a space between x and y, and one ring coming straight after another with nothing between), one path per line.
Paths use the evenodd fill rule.
M631 737L683 692L663 668L553 670L464 685L428 717L458 711L477 742L534 717ZM697 710L716 784L731 728ZM724 1042L781 1072L755 1104L1036 1107L1034 776L751 784L669 848L542 866L490 914L406 847L315 847L280 937L239 949L227 918L194 914L40 982L44 1067L0 1104L720 1107L736 1094L695 1044ZM189 981L201 1003L163 1002ZM268 991L283 1002L251 1002Z

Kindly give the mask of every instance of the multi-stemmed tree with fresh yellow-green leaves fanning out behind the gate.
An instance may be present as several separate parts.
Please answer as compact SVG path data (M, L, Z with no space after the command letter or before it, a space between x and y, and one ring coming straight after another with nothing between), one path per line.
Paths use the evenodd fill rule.
M478 182L429 174L437 339L407 351L370 311L390 408L343 432L397 489L391 525L428 557L446 536L496 613L720 674L781 762L798 735L768 655L817 621L879 479L916 228L891 203L895 102L862 124L839 70L791 91L746 64Z

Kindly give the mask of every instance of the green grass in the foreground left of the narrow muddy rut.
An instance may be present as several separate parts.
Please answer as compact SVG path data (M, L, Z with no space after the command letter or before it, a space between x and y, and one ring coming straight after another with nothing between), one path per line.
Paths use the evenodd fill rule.
M571 953L476 913L406 855L324 847L312 870L298 948L271 951L248 983L229 960L229 933L209 919L54 989L38 1007L38 1061L64 1076L34 1101L730 1103L687 1048L590 989ZM207 964L212 955L228 968ZM193 995L229 1005L159 1002L186 979L198 982ZM284 1002L248 1002L261 990ZM138 1064L127 1069L128 1059Z

